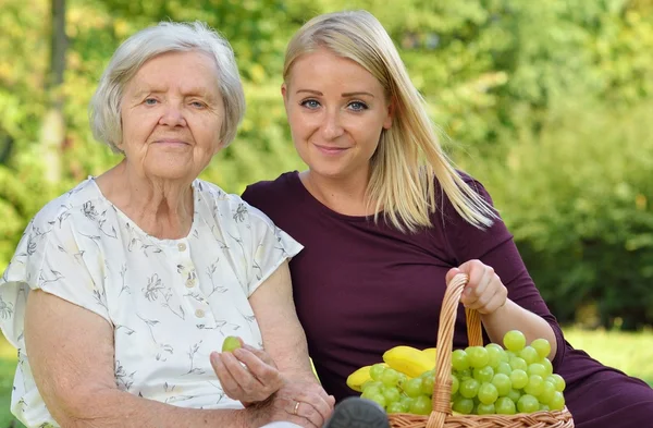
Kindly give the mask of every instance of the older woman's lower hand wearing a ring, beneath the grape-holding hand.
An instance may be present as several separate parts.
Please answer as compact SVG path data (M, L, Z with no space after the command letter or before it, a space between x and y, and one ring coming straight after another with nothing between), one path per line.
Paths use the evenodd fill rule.
M251 426L289 421L305 428L321 428L333 413L335 399L316 382L286 382L270 400L247 408Z

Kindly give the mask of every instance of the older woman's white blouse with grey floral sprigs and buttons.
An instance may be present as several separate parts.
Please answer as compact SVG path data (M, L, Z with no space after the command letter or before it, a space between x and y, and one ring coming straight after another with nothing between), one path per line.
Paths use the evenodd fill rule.
M12 412L58 426L36 389L23 321L41 289L113 326L119 389L195 408L239 408L209 362L226 335L262 347L248 297L301 246L268 217L201 180L190 233L159 240L104 198L89 178L32 220L0 280L0 326L19 348Z

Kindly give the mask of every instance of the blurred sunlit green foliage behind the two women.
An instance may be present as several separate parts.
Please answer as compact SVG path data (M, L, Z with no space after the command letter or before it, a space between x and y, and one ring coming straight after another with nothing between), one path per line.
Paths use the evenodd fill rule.
M301 169L280 96L285 44L309 17L367 9L430 103L443 144L480 179L562 321L653 323L652 0L69 0L64 84L46 90L45 0L0 0L0 269L49 199L119 158L87 105L118 45L161 20L201 20L236 52L248 102L236 142L204 178L239 193ZM56 91L56 93L53 93ZM48 102L65 140L45 171Z

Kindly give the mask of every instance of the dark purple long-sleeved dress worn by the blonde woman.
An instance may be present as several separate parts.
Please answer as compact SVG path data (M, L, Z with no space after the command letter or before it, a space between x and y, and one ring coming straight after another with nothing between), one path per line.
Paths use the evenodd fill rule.
M465 180L491 201L483 186ZM540 315L555 332L556 372L578 428L653 426L653 390L603 366L563 338L502 221L484 231L460 218L446 197L434 228L405 234L366 217L337 213L318 201L297 172L247 187L243 198L305 246L291 261L295 305L324 389L336 400L357 394L345 381L399 344L436 345L445 274L470 259L492 266L508 297ZM485 337L485 340L488 338ZM454 348L467 346L460 305Z

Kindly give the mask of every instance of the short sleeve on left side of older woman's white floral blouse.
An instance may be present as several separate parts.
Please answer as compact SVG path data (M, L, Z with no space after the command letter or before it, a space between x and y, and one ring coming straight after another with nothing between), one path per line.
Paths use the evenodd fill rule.
M16 347L22 341L25 305L29 290L42 290L110 320L107 297L98 268L103 266L93 236L78 241L72 221L33 220L0 280L0 322L7 339ZM101 276L100 276L101 278Z

